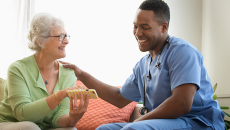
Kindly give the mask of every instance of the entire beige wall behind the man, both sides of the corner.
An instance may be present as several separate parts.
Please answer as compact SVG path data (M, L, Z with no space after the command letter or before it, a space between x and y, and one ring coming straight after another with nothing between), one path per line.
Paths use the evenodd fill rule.
M166 2L171 10L169 34L201 51L212 84L218 83L215 94L219 104L230 106L230 0Z

